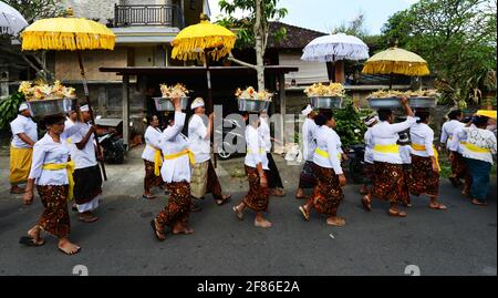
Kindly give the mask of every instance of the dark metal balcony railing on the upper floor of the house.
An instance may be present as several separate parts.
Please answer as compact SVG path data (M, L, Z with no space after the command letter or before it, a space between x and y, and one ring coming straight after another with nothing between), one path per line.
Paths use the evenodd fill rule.
M166 25L183 29L184 13L178 6L114 6L114 27Z

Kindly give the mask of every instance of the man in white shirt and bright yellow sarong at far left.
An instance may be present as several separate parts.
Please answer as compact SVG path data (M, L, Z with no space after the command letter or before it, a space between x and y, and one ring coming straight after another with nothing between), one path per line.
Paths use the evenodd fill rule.
M10 146L10 193L23 194L19 184L25 183L30 174L33 145L38 141L38 125L31 119L28 104L19 106L19 115L10 123L12 142Z

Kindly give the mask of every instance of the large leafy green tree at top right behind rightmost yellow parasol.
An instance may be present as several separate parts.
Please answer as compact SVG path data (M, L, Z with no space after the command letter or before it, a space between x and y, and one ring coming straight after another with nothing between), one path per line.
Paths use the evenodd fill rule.
M496 90L496 0L421 0L392 16L381 43L427 60L443 103L478 103Z

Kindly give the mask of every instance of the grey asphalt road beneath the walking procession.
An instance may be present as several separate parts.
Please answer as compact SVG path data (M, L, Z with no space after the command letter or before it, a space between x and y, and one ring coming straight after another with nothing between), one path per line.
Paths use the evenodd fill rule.
M252 227L250 213L238 222L231 204L218 207L208 197L204 210L191 215L194 235L157 243L148 222L166 197L138 198L143 172L135 156L110 166L112 179L104 188L98 222L83 224L71 214L72 238L82 251L65 256L51 237L43 247L18 244L35 223L41 204L37 199L23 206L20 197L8 194L7 163L0 157L0 275L71 275L75 265L85 265L90 275L403 275L407 265L417 265L422 275L497 274L496 182L488 207L470 205L443 183L447 212L428 209L426 198L414 198L406 218L388 217L383 202L374 202L373 212L365 213L357 187L346 186L340 214L347 224L342 228L326 226L315 214L304 222L293 191L271 199L268 218L274 226L268 230ZM229 178L231 169L224 168L222 184L241 188L234 194L232 202L238 202L247 183ZM287 187L295 188L295 179L287 178L291 171L282 172Z

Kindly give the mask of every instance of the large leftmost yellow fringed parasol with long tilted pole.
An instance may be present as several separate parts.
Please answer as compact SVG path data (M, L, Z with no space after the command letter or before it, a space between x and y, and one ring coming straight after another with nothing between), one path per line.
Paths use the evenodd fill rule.
M72 9L68 9L69 18L41 19L27 27L22 33L22 50L54 50L54 51L76 51L80 63L80 71L83 79L83 89L86 104L90 107L92 122L95 123L93 110L90 104L89 86L83 68L81 51L83 50L114 50L116 35L112 30L98 22L82 18L73 18ZM98 137L95 132L97 153L101 154ZM107 179L104 163L101 162L102 174Z

